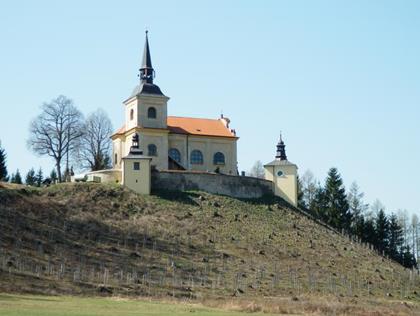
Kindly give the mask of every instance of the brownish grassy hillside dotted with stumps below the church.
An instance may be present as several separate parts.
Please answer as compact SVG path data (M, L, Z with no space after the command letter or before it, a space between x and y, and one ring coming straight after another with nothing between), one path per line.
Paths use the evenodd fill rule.
M0 187L0 291L418 299L419 279L275 197Z

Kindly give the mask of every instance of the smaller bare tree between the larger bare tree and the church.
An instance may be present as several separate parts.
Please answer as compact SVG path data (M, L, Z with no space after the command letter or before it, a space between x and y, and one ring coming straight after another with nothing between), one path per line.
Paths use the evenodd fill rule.
M92 171L110 168L111 134L111 120L103 110L87 117L79 147L82 168Z

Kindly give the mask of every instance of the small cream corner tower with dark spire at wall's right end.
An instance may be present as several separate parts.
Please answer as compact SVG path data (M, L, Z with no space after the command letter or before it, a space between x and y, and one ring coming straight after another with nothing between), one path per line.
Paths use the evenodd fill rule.
M273 182L274 194L297 206L297 166L287 160L286 145L280 135L276 159L264 166L265 178Z

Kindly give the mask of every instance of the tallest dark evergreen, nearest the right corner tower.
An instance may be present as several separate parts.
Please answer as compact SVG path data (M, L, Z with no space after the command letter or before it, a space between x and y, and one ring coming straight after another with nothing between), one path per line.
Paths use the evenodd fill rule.
M343 180L336 168L328 172L325 184L327 222L337 228L350 231L351 214Z

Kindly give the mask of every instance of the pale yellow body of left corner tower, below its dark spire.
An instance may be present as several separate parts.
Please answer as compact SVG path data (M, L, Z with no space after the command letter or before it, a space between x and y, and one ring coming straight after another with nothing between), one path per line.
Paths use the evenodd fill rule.
M140 164L140 170L134 170L135 162ZM137 193L150 194L150 159L147 157L123 158L122 165L122 184Z

